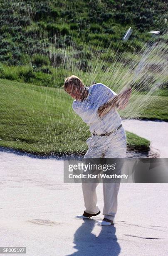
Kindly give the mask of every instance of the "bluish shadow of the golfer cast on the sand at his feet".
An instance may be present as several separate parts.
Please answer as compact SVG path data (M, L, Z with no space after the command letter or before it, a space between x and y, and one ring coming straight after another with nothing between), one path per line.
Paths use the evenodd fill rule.
M67 256L119 255L121 248L115 235L116 228L113 225L100 227L101 232L96 237L91 233L95 224L95 220L84 220L74 234L74 248L78 251Z

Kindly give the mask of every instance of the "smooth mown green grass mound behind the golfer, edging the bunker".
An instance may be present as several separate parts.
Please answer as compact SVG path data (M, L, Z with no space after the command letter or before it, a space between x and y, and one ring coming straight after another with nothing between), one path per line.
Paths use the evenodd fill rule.
M0 146L36 154L86 152L89 127L72 110L63 89L0 79ZM150 142L127 133L128 148Z

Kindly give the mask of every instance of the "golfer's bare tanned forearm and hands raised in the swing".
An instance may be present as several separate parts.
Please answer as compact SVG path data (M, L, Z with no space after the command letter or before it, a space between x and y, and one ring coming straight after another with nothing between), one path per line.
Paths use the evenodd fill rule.
M101 105L98 109L99 117L106 115L111 108L124 109L128 104L129 98L131 97L131 87L126 89L124 92L121 92L119 95L114 96L107 103Z

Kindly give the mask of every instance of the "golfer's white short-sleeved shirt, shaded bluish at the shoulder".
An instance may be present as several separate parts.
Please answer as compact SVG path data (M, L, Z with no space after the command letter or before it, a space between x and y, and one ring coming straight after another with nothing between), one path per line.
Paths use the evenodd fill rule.
M87 89L86 99L74 100L72 108L90 126L90 132L104 134L119 127L122 119L115 107L101 118L98 114L98 108L117 94L104 84L93 84Z

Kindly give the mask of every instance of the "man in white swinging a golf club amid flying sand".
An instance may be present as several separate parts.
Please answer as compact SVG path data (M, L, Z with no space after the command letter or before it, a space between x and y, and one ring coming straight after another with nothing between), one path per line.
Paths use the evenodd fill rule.
M124 109L131 96L131 88L117 95L104 84L85 87L79 77L72 75L64 82L64 90L75 100L73 110L90 127L92 136L87 139L88 151L84 158L124 158L126 133L116 108ZM90 218L100 213L96 186L99 183L82 183L86 210L77 218ZM114 224L117 211L119 183L103 183L104 219L98 225Z

